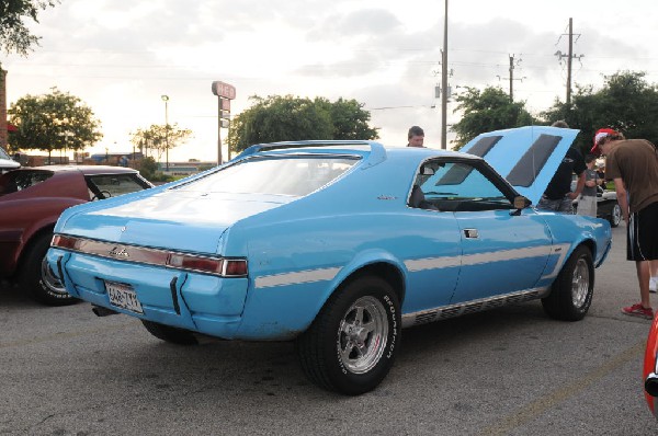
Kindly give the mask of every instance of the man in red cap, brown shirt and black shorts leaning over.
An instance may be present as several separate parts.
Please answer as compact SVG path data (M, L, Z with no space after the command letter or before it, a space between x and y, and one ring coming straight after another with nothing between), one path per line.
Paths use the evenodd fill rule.
M658 263L658 150L645 139L625 139L602 128L594 135L591 152L605 156L605 179L614 181L626 221L626 259L635 261L637 271L640 302L622 312L653 319L649 280L650 264Z

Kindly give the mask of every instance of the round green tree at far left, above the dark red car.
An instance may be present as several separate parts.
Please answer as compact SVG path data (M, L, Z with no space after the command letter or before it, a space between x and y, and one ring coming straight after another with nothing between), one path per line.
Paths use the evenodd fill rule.
M9 139L12 151L37 149L48 156L53 150L79 151L103 137L91 108L56 88L50 94L25 95L7 112L18 128Z

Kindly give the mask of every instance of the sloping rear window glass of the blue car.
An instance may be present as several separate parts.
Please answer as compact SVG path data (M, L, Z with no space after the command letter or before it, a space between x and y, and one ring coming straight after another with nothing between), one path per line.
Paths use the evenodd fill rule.
M332 182L358 161L355 157L254 157L179 190L304 196Z

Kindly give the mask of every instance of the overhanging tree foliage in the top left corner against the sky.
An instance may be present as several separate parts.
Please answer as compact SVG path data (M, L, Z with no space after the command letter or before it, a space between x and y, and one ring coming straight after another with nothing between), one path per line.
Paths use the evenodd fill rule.
M27 56L39 37L34 36L25 19L38 23L39 10L55 7L58 0L0 0L0 48L7 54Z

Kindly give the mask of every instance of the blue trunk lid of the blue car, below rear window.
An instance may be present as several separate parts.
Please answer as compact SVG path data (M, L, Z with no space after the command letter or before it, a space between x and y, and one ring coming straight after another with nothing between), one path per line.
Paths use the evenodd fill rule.
M103 241L213 254L224 231L236 221L293 198L163 191L110 207L98 203L78 206L66 219L65 228L67 234Z

